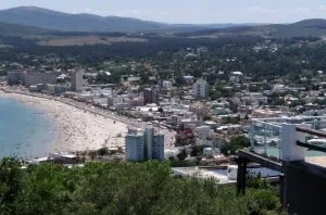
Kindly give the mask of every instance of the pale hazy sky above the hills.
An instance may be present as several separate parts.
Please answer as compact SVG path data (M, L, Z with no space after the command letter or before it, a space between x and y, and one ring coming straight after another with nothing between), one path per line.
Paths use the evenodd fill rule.
M325 0L0 0L0 9L18 5L167 23L290 23L326 18Z

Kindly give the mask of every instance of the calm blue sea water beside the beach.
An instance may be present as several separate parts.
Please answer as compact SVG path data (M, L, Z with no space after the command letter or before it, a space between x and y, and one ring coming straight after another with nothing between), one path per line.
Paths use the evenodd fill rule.
M0 157L47 155L55 124L41 110L0 94Z

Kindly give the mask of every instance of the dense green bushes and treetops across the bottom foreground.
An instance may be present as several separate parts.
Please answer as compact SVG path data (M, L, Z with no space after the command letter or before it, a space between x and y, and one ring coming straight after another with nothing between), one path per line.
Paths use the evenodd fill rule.
M253 182L235 188L171 176L168 163L89 163L68 169L0 164L0 214L279 214L278 198Z

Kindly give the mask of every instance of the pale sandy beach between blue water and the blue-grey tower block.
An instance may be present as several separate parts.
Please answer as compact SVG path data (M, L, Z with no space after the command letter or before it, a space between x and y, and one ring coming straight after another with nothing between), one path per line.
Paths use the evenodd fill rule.
M57 125L53 152L125 147L127 125L54 100L17 93L1 93L34 105Z

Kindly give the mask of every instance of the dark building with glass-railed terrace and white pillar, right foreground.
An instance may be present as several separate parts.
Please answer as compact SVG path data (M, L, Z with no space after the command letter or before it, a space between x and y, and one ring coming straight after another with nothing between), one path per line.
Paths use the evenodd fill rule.
M268 151L266 154L260 153L254 141L252 141L251 150L239 150L237 157L238 193L246 192L248 164L253 162L283 173L279 177L280 202L289 214L326 214L324 206L326 148L325 144L312 143L308 139L309 137L326 138L325 131L312 129L312 127L316 128L317 119L322 121L323 116L252 119L253 126L258 125L255 123L261 123L265 129L279 132L280 141L276 146L279 150L279 157L267 156ZM280 123L276 124L276 121ZM254 127L252 134L254 135ZM311 151L318 152L319 156L306 156Z

